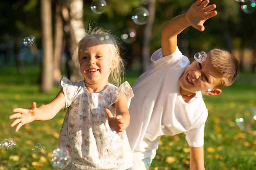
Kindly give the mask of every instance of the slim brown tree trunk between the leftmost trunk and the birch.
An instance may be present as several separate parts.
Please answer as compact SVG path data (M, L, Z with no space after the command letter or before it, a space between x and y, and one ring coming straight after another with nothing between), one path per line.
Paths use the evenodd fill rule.
M56 3L55 14L55 38L54 38L54 82L59 82L62 75L60 70L61 56L63 49L63 20L61 15L61 5Z

